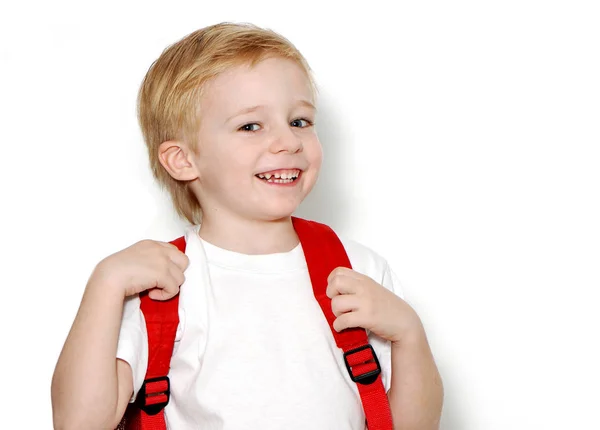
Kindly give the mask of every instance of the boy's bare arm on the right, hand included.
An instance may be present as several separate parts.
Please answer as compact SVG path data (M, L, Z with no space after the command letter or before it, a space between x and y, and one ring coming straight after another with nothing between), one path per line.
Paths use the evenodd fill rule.
M391 342L388 392L396 430L437 430L443 389L421 320L412 307L373 279L338 267L327 296L337 317L333 328L362 327Z

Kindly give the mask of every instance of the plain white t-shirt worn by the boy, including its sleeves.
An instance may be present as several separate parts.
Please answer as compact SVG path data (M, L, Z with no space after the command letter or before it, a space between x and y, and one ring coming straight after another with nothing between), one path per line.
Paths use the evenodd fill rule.
M167 427L175 430L364 430L356 384L314 298L298 245L245 255L186 233L180 323L171 361ZM342 239L352 268L400 295L387 262ZM389 342L369 335L390 387ZM125 301L117 357L146 373L148 340L139 297Z

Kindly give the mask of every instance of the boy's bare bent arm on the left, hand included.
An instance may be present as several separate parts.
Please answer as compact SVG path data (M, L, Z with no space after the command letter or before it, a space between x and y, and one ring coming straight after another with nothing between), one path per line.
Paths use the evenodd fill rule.
M52 378L56 429L113 429L133 392L129 364L116 359L125 297L179 292L188 258L176 246L142 241L102 260L92 273Z

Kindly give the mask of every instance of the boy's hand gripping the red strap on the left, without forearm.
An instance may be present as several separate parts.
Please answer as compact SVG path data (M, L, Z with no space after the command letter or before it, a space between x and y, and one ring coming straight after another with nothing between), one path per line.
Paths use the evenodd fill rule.
M142 240L98 263L89 284L110 285L123 297L150 290L151 299L167 300L179 292L188 264L175 245Z

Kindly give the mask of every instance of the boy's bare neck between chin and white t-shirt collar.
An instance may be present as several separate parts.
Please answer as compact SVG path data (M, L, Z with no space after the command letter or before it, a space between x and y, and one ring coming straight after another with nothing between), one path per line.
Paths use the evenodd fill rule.
M211 217L205 213L199 235L219 248L242 254L287 252L299 242L291 217L273 221L242 220L224 215Z

